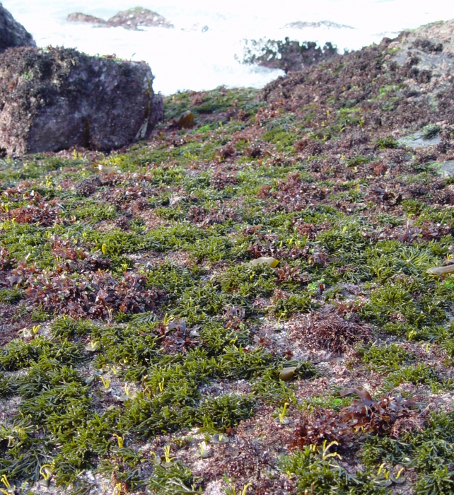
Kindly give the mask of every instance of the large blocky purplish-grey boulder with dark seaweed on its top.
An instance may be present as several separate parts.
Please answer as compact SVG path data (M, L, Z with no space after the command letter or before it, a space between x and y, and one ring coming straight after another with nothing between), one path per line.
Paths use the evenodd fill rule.
M0 55L0 148L11 155L144 139L163 115L145 62L76 50L16 48Z

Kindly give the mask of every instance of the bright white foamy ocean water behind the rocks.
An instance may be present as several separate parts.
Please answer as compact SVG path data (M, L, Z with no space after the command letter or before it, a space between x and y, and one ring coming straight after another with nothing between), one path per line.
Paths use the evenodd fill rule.
M37 45L74 47L88 54L145 60L153 88L168 95L216 86L261 88L282 71L245 66L244 40L327 41L339 52L395 37L404 29L454 18L454 0L4 0ZM175 28L97 28L66 21L72 12L110 18L135 6L149 8ZM330 21L343 28L286 28Z

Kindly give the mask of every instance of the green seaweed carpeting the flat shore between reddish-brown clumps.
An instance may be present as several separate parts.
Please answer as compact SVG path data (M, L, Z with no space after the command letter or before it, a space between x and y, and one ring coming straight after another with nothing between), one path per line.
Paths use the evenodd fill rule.
M393 92L391 86L384 88L380 100ZM21 397L17 414L0 431L0 474L6 474L11 483L19 487L26 480L35 481L40 478L40 467L52 464L54 478L62 487L73 483L81 490L89 489L78 473L99 470L108 476L115 471L119 482L130 491L146 486L155 493L197 493L201 482L184 463L177 460L171 467L156 465L153 458L144 458L132 445L163 434L183 435L193 428L206 433L226 432L256 417L260 404L339 410L349 399L329 395L298 402L296 386L279 380L279 370L297 366L295 380L304 381L316 378L318 371L305 361L295 363L266 346L255 346L254 337L262 318L277 322L300 317L317 310L325 297L339 303L344 298L344 284L361 285L366 301L357 314L384 337L392 334L403 341L429 343L452 359L453 329L448 325L454 301L452 282L449 276L438 281L425 272L449 255L453 237L450 233L436 239L374 237L384 226L402 228L409 216L414 226L426 222L451 225L452 211L422 198L407 198L388 212L377 213L371 206L371 214L361 213L370 200L367 176L356 179L353 175L339 185L334 172L317 177L318 172L310 168L311 160L294 158L295 144L306 136L303 129L315 115L310 105L303 117L284 113L263 129L262 141L272 153L287 153L285 157L279 156L274 162L268 156L251 158L245 156L248 139L243 136L235 141L238 156L234 163L240 170L233 170L235 183L219 189L212 181L212 161L216 163L221 148L234 140L235 133L243 132L248 127L246 120L253 120L264 107L256 97L252 90L218 89L204 94L198 103L192 103L190 93L168 98L168 120L191 110L196 128L175 134L187 139L181 146L170 146L157 136L153 149L136 146L106 157L103 166L120 170L113 172L117 175L115 187L121 192L115 202L104 197L105 203L98 204L99 197L82 199L75 190L60 187L64 180L78 182L98 175L86 159L77 156L36 156L1 168L3 190L21 180L35 180L21 194L35 190L45 201L58 199L62 203L60 223L47 227L11 223L1 228L1 245L8 250L11 267L26 258L28 264L35 262L37 269L66 270L53 252L53 239L59 237L108 262L115 280L121 279L122 272L138 272L144 276L147 289L165 294L156 308L144 314L118 311L94 321L91 315L54 318L41 306L18 307L18 318L34 315L52 321L49 334L14 339L4 345L0 356L1 371L21 371L13 378L0 376L1 397ZM244 120L230 120L227 114L232 108L243 110ZM347 104L334 117L330 126L313 129L316 141L335 140L346 129L362 126L361 110L349 109ZM354 174L357 168L361 173L376 160L376 153L396 149L395 139L382 136L373 141L368 153L350 153L343 161L344 169ZM338 190L327 194L326 203L286 209L279 194L295 173L304 186ZM124 229L114 224L120 216L130 214L124 194L139 183L134 174L146 175L145 211L151 209L163 223L146 226L146 219L141 218L130 221ZM433 175L407 170L401 178L407 185L428 185ZM111 188L106 182L99 191L109 194ZM175 197L179 198L177 203ZM19 197L13 206L26 206L27 202ZM344 202L351 211L339 206ZM194 206L199 210L194 212ZM194 220L196 214L201 221ZM98 228L102 222L109 228ZM305 223L311 227L306 228ZM307 274L310 282L278 284L276 269L252 266L250 261L258 256L251 255L250 245L259 244L268 250L263 257L280 259L284 252L287 257L279 267L285 260L289 267L299 267ZM307 255L302 255L305 248ZM289 255L293 249L301 250L295 251L295 259ZM326 264L310 260L317 250L326 252ZM183 261L175 256L179 254L184 255ZM77 272L71 277L82 281ZM325 288L320 289L320 284ZM275 295L277 289L284 293ZM2 289L2 303L23 303L28 297L26 290L21 286ZM260 298L264 299L262 305L257 303ZM188 347L175 344L177 338L173 339L168 327L172 320L184 320L191 331L195 328L192 337L185 334ZM96 343L93 351L87 350L88 342ZM414 354L400 344L359 349L359 361L386 375L383 390L402 384L426 386L434 393L452 388L444 371L417 363ZM122 400L106 400L101 376L121 384L115 385L115 393ZM250 392L212 397L204 391L214 382L232 384L238 380L245 380ZM127 384L134 393L124 392ZM302 494L312 487L314 493L385 494L388 489L376 483L380 464L384 460L392 465L410 462L419 472L416 493L449 493L452 474L440 467L452 457L452 418L447 417L432 415L426 430L411 440L405 437L407 446L388 436L361 440L367 468L356 477L341 467L333 470L332 458L320 458L310 448L285 458L281 470L296 477ZM429 445L436 441L443 424L447 428L444 443L437 445L435 455L429 452ZM120 447L115 435L123 438L126 446ZM430 462L424 464L420 448ZM334 448L330 450L333 452ZM149 479L142 479L138 464L151 467Z

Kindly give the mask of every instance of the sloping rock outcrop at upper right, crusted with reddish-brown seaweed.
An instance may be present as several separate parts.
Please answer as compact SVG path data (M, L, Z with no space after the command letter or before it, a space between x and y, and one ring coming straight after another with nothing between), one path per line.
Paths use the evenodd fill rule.
M374 66L377 57L382 66ZM349 71L343 71L342 77L335 74L339 59L333 59L327 63L329 70L322 73L309 67L293 72L269 83L262 95L270 103L285 100L287 110L310 103L327 105L327 98L342 95L341 101L349 105L361 101L368 109L363 129L370 126L373 131L379 122L385 128L399 129L400 138L402 131L414 132L439 121L454 122L453 62L454 21L433 23L345 54L342 63L349 64ZM315 78L318 83L314 87Z

